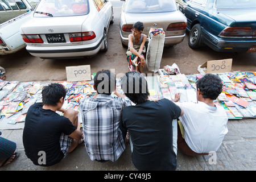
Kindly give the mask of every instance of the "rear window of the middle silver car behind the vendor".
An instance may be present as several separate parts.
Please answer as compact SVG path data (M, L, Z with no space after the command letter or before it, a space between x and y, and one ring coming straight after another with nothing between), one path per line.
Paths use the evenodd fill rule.
M125 13L161 13L176 10L173 0L128 0L125 7Z

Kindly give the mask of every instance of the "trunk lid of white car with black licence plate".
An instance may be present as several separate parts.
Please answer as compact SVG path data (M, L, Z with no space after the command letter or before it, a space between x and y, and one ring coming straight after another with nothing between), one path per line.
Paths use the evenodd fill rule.
M82 23L88 15L31 18L22 24L24 34L68 33L82 31ZM51 30L49 30L51 29Z

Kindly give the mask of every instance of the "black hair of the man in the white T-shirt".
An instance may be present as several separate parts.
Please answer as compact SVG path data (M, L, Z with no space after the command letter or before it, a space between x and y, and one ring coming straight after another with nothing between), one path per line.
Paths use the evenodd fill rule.
M196 88L200 89L204 98L215 100L222 92L223 84L217 75L205 74L196 82Z

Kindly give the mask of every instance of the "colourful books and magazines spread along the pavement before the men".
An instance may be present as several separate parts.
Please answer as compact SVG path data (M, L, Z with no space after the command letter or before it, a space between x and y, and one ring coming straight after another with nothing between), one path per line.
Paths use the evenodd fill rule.
M226 72L216 73L221 78L224 88L216 105L224 107L229 119L256 118L256 73ZM179 102L197 102L196 81L202 74L160 75L146 77L150 98L173 100L177 92L181 93ZM121 78L116 78L118 91L122 94ZM10 124L24 122L29 107L35 102L42 102L42 88L48 82L19 82L0 80L0 120L8 118ZM53 81L63 84L67 91L64 109L79 112L79 102L83 97L93 97L96 90L92 81ZM116 97L112 93L113 97ZM60 113L59 114L63 114Z

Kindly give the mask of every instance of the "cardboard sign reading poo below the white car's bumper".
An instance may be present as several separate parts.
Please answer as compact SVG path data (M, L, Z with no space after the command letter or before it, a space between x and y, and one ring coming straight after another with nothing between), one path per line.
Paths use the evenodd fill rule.
M91 80L90 65L66 67L67 81Z

